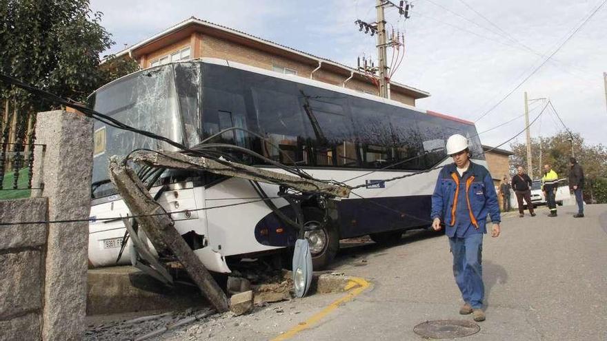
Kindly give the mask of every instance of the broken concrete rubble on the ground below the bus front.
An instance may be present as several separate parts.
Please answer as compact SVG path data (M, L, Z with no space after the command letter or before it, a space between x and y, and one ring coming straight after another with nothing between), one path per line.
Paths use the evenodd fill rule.
M238 276L252 277L248 271L234 271ZM251 271L252 272L252 271ZM299 300L292 299L290 271L257 273L257 284L243 277L232 277L228 290L232 291L231 311L215 313L210 309L157 313L155 315L112 320L103 324L90 324L86 341L106 340L199 340L213 338L224 329L248 329L246 321L272 320L275 316L298 316ZM344 291L350 277L344 273L317 273L313 280L313 292L339 293ZM237 293L235 289L249 289ZM317 288L317 289L316 289ZM238 289L238 290L239 290ZM277 302L283 303L277 303ZM238 304L239 307L235 307ZM237 309L235 309L237 308Z

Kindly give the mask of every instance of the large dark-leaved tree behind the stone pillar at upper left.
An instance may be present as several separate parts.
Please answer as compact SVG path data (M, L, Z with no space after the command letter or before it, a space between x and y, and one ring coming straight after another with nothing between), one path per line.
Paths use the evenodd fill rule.
M114 68L99 68L99 54L113 44L101 17L88 0L0 0L0 72L84 101L110 77L121 76ZM31 143L35 113L57 107L4 83L0 100L0 137L4 148L16 142L14 151L23 150L26 136Z

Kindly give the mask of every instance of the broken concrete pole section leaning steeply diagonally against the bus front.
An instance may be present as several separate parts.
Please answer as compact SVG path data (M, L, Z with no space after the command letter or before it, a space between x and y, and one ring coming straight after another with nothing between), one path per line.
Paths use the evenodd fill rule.
M170 216L162 214L166 211L150 196L137 174L117 158L112 158L110 178L157 251L170 251L175 255L212 306L221 313L228 311L226 294L175 229Z

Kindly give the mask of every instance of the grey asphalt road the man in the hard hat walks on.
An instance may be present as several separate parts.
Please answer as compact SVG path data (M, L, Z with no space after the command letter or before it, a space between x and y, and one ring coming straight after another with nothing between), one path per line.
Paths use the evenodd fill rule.
M484 239L487 320L466 340L607 340L607 205L508 214L501 236ZM413 231L391 247L344 242L334 271L372 283L348 302L316 294L258 307L246 316L214 316L152 340L424 340L426 320L468 320L453 280L445 236ZM302 325L308 328L293 332Z

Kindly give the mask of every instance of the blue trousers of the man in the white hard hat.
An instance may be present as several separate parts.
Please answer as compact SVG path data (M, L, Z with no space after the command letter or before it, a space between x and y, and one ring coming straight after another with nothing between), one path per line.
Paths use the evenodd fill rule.
M485 285L483 283L482 251L483 234L472 234L466 238L449 238L453 254L453 276L461 298L472 308L483 305Z

